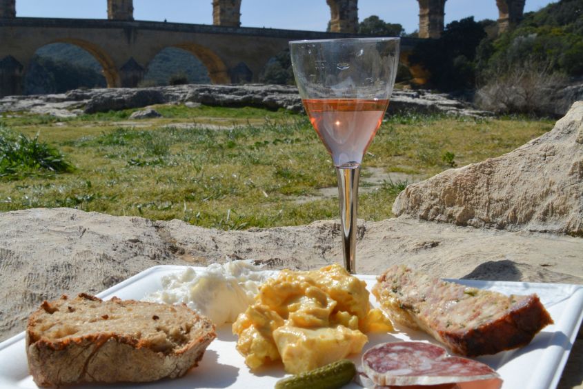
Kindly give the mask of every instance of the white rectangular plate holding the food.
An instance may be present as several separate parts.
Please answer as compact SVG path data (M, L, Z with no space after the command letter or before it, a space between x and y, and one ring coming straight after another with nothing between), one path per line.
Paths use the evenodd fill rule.
M161 277L181 272L186 266L155 266L144 270L97 295L102 299L113 296L121 299L141 299L147 293L161 288ZM358 275L366 281L368 289L375 283L375 276ZM525 283L506 281L448 280L467 286L497 290L506 295L537 293L549 310L555 324L548 326L526 347L500 352L497 355L477 358L495 369L502 379L502 388L546 389L555 388L560 380L564 364L575 341L583 319L583 286L560 283ZM377 306L371 295L370 301ZM395 340L417 340L435 343L422 332L396 328L389 334L368 334L364 350L378 343ZM230 325L217 328L217 339L210 344L199 367L190 370L181 379L164 379L143 384L144 388L273 388L275 382L285 376L279 364L253 374L245 366L244 359L235 350L237 337ZM353 356L359 364L359 356ZM137 384L107 386L83 386L90 388L134 388ZM37 388L28 375L24 333L0 343L0 388ZM359 388L351 384L347 388Z

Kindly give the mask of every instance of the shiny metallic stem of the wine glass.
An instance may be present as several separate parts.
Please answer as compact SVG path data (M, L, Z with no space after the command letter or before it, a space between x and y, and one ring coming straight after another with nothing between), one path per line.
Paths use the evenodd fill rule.
M336 168L344 267L351 274L356 273L356 218L359 175L360 166Z

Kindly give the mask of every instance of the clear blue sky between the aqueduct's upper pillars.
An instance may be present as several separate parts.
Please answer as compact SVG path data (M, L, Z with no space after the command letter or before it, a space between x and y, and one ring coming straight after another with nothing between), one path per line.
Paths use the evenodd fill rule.
M526 0L525 12L535 11L551 0ZM19 17L67 17L106 19L106 0L16 0ZM359 0L359 20L377 15L401 23L406 32L417 29L417 0ZM497 19L495 0L447 0L445 22L473 16ZM212 0L134 0L136 20L213 23ZM241 26L324 31L330 19L326 0L242 0Z

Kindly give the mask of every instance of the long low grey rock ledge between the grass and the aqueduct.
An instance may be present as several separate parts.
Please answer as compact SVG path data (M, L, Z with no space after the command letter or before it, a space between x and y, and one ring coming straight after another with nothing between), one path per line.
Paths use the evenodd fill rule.
M302 100L295 86L283 85L182 85L155 88L109 88L71 90L63 94L8 96L0 99L0 112L32 111L45 114L78 114L143 108L161 103L203 103L208 106L255 106L302 112ZM393 112L443 112L486 116L463 101L446 94L424 90L395 90L388 107Z

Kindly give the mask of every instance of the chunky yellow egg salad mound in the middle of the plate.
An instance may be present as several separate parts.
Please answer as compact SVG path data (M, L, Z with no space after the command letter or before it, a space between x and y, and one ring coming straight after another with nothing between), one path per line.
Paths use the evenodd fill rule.
M368 341L363 332L393 330L368 296L366 283L338 264L282 270L233 323L237 350L252 370L281 360L293 374L360 352Z

